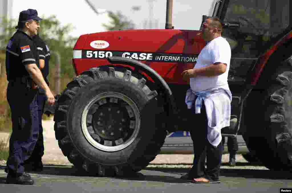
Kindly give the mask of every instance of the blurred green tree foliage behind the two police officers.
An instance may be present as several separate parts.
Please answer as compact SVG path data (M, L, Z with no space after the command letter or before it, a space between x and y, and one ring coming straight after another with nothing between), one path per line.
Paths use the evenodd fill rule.
M72 58L73 46L77 38L69 36L69 32L73 29L71 24L62 26L54 15L42 18L43 19L40 21L39 34L51 51L50 73L48 76L50 87L54 89L53 78L56 64L54 53L58 52L61 57L61 89L64 89L65 85L75 76ZM16 32L15 26L17 25L17 21L4 18L1 25L4 26L3 34L0 34L1 50L5 50L9 39ZM1 71L4 73L5 70L2 68Z

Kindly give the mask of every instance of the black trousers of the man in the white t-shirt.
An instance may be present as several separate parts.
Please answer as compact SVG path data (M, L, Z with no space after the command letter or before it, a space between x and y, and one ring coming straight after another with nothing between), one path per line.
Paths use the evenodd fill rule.
M192 108L192 113L193 118L190 120L190 124L193 125L193 129L190 130L190 134L194 144L194 162L189 176L218 180L223 152L222 141L217 147L214 147L207 139L208 120L204 102L200 114L195 114L194 108ZM205 168L206 158L207 168Z

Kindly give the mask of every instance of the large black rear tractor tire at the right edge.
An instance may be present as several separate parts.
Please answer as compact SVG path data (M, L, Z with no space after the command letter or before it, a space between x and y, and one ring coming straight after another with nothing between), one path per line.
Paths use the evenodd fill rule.
M292 68L274 71L264 90L248 96L243 138L267 168L292 171Z

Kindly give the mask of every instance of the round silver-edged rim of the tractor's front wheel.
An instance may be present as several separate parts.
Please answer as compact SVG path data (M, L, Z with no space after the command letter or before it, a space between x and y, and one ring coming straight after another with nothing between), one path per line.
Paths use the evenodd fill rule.
M140 130L140 112L135 103L118 92L95 96L84 108L81 127L95 148L114 152L128 147Z

